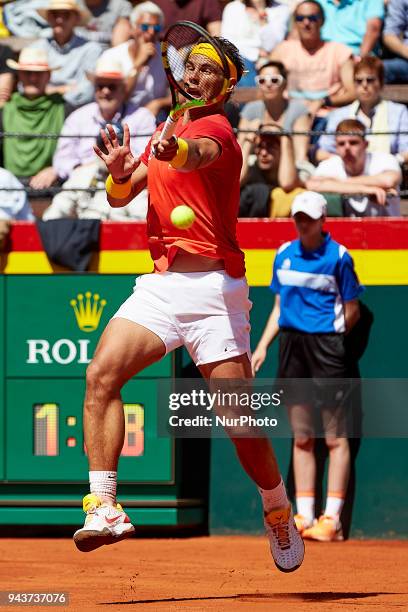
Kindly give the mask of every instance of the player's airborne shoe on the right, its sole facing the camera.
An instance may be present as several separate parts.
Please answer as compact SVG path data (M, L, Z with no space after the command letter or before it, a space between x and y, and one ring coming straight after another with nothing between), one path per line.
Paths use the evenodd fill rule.
M276 567L281 572L294 572L302 565L305 545L296 528L292 506L266 513L264 524Z

